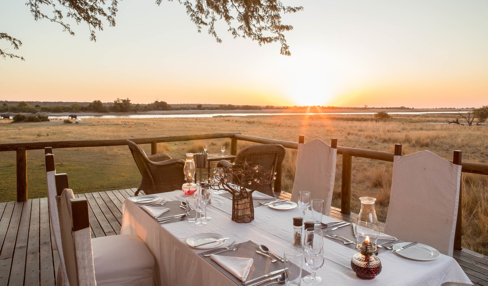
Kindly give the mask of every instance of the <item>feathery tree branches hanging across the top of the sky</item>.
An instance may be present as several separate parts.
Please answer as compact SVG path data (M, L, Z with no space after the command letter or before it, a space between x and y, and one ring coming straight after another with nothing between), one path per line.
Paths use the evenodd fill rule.
M163 0L156 0L161 5ZM168 0L173 1L173 0ZM85 23L90 32L90 41L96 41L95 30L103 30L103 20L109 26L115 26L119 0L27 0L25 3L35 20L47 19L61 25L63 31L74 36L66 20L77 24ZM203 26L208 27L208 34L222 42L215 31L215 23L223 20L235 38L249 38L258 41L259 45L272 42L281 43L282 55L291 55L286 44L284 32L293 29L291 25L282 24L282 13L302 11L303 7L285 6L281 0L178 0L186 8L186 14L197 26L198 32ZM0 40L7 41L14 49L22 45L20 40L0 33ZM0 49L0 57L24 61L18 55Z

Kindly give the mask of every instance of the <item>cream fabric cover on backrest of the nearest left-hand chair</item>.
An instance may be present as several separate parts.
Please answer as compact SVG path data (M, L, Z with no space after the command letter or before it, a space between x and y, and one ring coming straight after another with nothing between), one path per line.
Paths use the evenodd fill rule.
M73 231L71 189L61 193L59 214L66 273L71 286L96 286L90 227Z

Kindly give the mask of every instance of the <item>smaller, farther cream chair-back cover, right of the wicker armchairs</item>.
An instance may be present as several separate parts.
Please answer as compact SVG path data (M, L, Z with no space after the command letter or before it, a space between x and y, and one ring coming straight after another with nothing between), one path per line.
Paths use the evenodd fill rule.
M325 215L330 213L334 190L337 149L320 139L298 144L297 169L291 201L298 202L300 191L309 191L312 199L324 200Z

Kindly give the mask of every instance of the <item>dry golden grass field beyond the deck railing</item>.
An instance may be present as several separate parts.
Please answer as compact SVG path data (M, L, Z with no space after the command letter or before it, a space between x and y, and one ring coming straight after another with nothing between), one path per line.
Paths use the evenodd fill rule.
M0 120L0 143L62 140L138 138L216 132L242 134L279 140L305 141L320 138L340 146L393 152L402 143L405 154L430 150L448 160L453 150L463 150L463 161L488 163L488 127L439 125L455 115L393 115L387 123L372 122L369 115L289 115L215 118L87 119L80 124L12 123ZM201 150L220 152L230 140L164 143L161 147L173 158ZM249 143L240 142L239 148ZM141 146L150 153L150 145ZM29 198L46 197L43 150L27 152ZM54 150L56 171L67 173L75 193L137 187L141 176L126 146L66 148ZM291 192L296 150L287 149L283 189ZM360 196L378 199L378 216L384 220L389 203L392 163L353 158L352 210L358 212ZM16 154L0 152L0 202L16 199ZM488 176L463 175L463 246L488 254ZM340 207L341 156L338 156L332 204Z

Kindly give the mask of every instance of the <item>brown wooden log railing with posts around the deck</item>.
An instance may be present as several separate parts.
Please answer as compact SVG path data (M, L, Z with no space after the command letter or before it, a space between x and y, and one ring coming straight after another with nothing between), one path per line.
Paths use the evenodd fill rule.
M241 133L212 133L212 134L196 134L196 135L178 135L178 136L163 136L163 137L146 137L146 138L130 138L137 144L151 144L151 154L158 153L158 143L163 142L178 142L178 141L193 141L205 139L221 139L230 138L230 152L232 155L237 154L238 141L247 141L262 144L281 144L285 148L298 149L299 143L305 142L303 135L299 136L299 142L282 141L276 139L269 139L263 137L242 135ZM50 141L50 142L32 142L32 143L5 143L0 144L0 152L16 151L17 152L17 201L27 200L27 150L44 149L44 147L52 148L73 148L73 147L101 147L101 146L122 146L126 145L126 139L110 139L110 140L76 140L76 141ZM342 178L341 178L341 213L349 214L351 212L351 176L353 157L360 157L366 159L380 160L393 162L395 154L401 154L401 148L395 146L396 153L350 148L337 146L337 139L332 139L331 145L337 147L337 154L342 155ZM457 155L456 155L457 154ZM457 156L457 157L456 157ZM462 165L462 172L488 175L488 164L461 162L461 153L455 152L454 163ZM277 166L277 177L275 184L275 191L281 191L281 166ZM461 197L461 196L460 196ZM461 212L461 208L459 209ZM460 218L461 213L458 213ZM461 225L458 220L456 227L456 241L455 248L461 249Z

